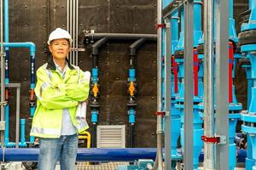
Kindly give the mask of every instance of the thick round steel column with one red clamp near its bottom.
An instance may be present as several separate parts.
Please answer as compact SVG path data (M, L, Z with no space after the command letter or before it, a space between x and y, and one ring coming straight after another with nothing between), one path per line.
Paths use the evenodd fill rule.
M213 1L204 3L204 135L214 136L214 104L213 104ZM215 168L214 144L204 143L204 167Z

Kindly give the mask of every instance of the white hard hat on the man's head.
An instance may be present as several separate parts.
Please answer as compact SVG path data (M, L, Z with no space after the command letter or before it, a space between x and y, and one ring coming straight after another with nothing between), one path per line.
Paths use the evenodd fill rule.
M70 36L70 34L68 33L68 31L63 30L61 28L56 28L55 31L52 31L49 34L49 39L48 39L48 45L50 44L50 42L52 42L55 39L61 39L61 38L65 38L69 41L69 44L71 45L71 43L73 42L72 37Z

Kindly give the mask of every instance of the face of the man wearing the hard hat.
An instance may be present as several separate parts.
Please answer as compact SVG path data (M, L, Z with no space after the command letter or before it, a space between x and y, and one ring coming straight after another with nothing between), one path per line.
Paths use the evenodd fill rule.
M49 51L54 59L66 59L69 50L69 42L65 38L55 39L49 45Z

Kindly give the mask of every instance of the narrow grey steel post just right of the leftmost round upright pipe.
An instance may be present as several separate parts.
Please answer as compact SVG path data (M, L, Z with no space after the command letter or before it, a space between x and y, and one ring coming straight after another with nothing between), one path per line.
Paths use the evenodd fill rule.
M172 26L170 20L165 20L166 22L166 56L165 56L165 96L166 96L166 103L165 103L165 109L166 109L166 116L165 116L165 122L166 122L166 132L165 133L165 164L166 169L172 169L172 135L170 132L172 132L172 122L171 122L171 96L172 96L172 90L171 90L171 72L172 72Z

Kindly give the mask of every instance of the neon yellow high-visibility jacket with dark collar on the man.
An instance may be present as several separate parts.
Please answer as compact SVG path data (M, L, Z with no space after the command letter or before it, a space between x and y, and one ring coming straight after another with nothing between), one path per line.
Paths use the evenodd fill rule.
M65 77L56 71L52 59L38 68L38 82L35 88L37 109L32 120L30 135L41 138L59 138L61 136L63 109L68 109L73 125L78 132L88 129L81 127L76 120L79 102L88 98L90 80L84 79L78 66L70 65L67 60Z

